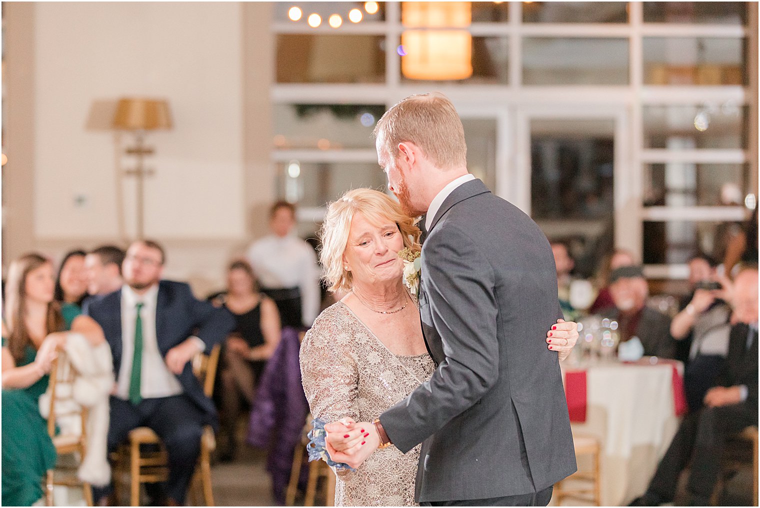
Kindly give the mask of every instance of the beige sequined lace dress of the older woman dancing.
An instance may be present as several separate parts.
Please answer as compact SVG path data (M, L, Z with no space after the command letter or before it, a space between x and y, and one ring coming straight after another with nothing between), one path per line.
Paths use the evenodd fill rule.
M344 303L322 312L301 344L301 376L314 418L372 421L429 379L427 354L399 356ZM381 449L356 471L340 471L335 506L416 506L420 445L406 455Z

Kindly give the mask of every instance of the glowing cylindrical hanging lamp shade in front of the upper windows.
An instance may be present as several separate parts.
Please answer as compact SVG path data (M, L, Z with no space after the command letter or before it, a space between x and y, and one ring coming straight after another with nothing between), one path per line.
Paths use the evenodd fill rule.
M470 2L402 2L401 45L406 55L401 60L405 78L448 81L467 79L473 74L472 21ZM442 28L444 30L429 30Z

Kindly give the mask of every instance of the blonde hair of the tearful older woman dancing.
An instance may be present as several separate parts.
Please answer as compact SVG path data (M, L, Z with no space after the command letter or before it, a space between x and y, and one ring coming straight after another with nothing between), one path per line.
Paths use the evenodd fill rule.
M401 205L393 198L373 189L350 190L328 205L325 222L319 231L322 243L319 260L324 269L322 278L328 283L328 290L333 293L353 287L351 272L343 265L343 254L348 244L351 221L357 213L372 224L384 221L396 223L404 247L420 250L420 228L414 225L413 217L401 211Z

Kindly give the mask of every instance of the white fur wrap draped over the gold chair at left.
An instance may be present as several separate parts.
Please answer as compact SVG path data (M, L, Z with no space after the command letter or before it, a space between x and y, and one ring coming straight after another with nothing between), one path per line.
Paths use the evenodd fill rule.
M111 479L108 463L109 395L113 388L113 363L111 349L107 342L93 348L92 344L79 333L68 333L65 346L68 362L77 370L74 383L58 383L56 392L63 398L56 402L55 412L65 413L76 409L61 405L78 405L89 408L87 416L87 454L78 470L81 481L101 486ZM68 368L59 365L59 368ZM57 396L56 398L61 398ZM40 413L47 418L50 410L50 390L40 397ZM81 434L80 418L60 418L58 424L62 434Z

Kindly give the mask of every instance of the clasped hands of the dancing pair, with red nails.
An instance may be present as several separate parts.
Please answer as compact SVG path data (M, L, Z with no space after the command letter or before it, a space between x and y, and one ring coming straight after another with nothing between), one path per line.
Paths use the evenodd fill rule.
M335 462L358 468L380 445L375 425L366 421L356 423L343 418L325 425L325 447Z

